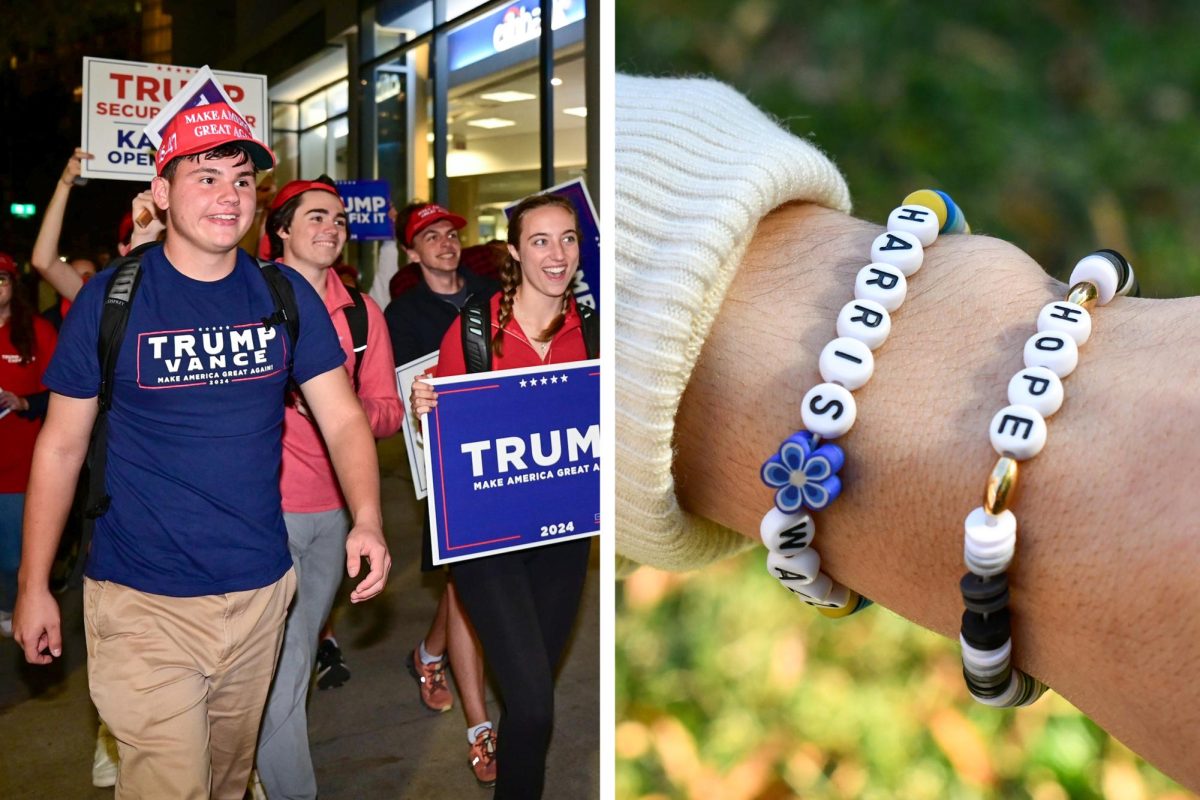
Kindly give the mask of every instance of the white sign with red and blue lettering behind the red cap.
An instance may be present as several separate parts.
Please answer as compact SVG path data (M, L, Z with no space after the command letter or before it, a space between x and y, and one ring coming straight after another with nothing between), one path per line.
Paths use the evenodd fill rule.
M114 59L83 60L83 149L95 158L84 160L84 178L109 178L149 182L155 175L156 143L145 126L167 108L196 76L194 67L167 64L143 64ZM228 98L254 132L259 142L269 143L266 76L245 72L211 72L211 86L223 97L209 97L197 103Z

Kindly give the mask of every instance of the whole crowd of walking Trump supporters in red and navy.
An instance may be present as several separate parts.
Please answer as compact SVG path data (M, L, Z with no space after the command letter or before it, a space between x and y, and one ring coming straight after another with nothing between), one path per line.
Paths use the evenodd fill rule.
M335 595L344 573L352 603L374 597L392 564L374 445L403 403L416 416L437 403L424 381L401 398L395 368L440 349L432 374L467 372L458 320L473 303L491 309L493 369L587 356L570 200L527 198L504 258L494 242L476 249L503 260L499 281L463 264L463 216L407 205L395 230L409 264L384 309L343 261L334 181L276 187L271 150L217 110L232 127L169 124L175 146L158 151L104 269L59 255L91 157L78 149L30 279L0 254L0 633L30 663L61 655L52 588L78 554L101 721L92 780L119 798L316 798L311 685L350 678ZM41 314L37 278L58 293ZM475 778L496 798L540 798L589 540L450 570L432 564L427 529L421 540L422 570L445 584L407 658L420 700L452 708L449 670Z

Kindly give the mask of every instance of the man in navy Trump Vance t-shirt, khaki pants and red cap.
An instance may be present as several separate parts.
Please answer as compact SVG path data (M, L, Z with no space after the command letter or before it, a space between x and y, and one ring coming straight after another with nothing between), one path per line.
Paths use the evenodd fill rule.
M118 796L230 798L246 789L295 587L280 503L288 378L329 446L354 527L352 594L383 590L374 439L320 300L292 270L300 333L268 325L275 301L238 242L254 174L275 163L223 103L180 112L151 184L167 237L142 257L108 411L108 511L84 585L88 679L121 757ZM34 453L16 638L31 663L61 655L48 576L97 416L101 308L112 271L76 299L47 373ZM290 371L289 371L290 365Z

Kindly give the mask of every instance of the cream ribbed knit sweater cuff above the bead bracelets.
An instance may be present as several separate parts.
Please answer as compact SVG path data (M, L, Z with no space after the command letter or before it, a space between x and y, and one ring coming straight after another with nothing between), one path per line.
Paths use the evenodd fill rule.
M750 542L684 513L676 411L758 221L792 201L850 211L836 167L728 86L618 76L617 552L689 570Z

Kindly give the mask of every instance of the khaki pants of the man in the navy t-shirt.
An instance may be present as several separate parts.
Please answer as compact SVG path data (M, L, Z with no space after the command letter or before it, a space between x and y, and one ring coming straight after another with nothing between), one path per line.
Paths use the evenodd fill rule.
M118 742L119 800L241 800L294 591L292 570L203 597L84 582L88 682Z

